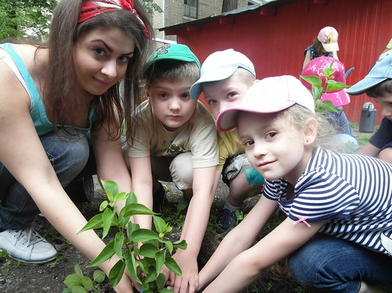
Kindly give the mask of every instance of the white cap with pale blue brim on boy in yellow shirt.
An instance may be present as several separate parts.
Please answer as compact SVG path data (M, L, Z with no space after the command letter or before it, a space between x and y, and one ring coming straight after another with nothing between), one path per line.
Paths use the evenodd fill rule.
M252 61L244 54L233 49L212 53L202 64L200 79L190 87L190 96L197 99L202 93L203 82L225 80L232 76L237 68L244 68L256 77Z

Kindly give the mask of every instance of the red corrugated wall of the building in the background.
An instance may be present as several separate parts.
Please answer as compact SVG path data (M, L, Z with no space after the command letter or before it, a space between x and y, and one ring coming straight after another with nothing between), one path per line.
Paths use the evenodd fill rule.
M392 1L314 2L320 0L277 3L274 16L261 15L257 9L235 15L233 24L220 24L218 19L212 19L202 23L200 31L187 31L184 26L177 33L177 42L189 46L201 63L216 50L234 48L252 60L259 79L276 75L298 76L304 49L313 43L321 28L334 26L339 32L339 60L346 70L355 67L346 80L353 85L368 73L392 38ZM359 122L363 103L368 101L372 99L366 95L351 97L351 103L344 107L351 122ZM381 110L375 106L378 124Z

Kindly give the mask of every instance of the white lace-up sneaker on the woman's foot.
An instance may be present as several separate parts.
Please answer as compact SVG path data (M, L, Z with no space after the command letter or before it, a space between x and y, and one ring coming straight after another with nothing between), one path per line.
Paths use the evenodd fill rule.
M57 256L53 245L32 228L0 232L0 251L3 249L19 262L50 262Z

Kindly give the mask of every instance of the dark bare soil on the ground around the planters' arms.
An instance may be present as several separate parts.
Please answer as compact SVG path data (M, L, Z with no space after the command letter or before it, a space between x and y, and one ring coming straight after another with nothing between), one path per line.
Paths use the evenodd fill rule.
M359 134L363 136L368 134ZM170 215L175 215L176 207L182 195L177 188L172 183L165 183L167 187L167 198L165 209L163 211L163 218L167 223L173 226L173 230L170 233L169 238L175 241L180 236L180 228L178 228L175 223L173 224ZM223 238L223 235L216 233L217 226L215 223L215 215L217 211L222 208L225 203L225 198L227 196L227 186L225 183L220 182L217 188L217 193L215 194L215 201L212 205L210 223L212 223L205 234L205 238L200 250L199 255L199 267L201 268L205 265L205 262L212 255L217 245ZM99 213L99 205L105 199L103 191L100 190L96 182L95 196L91 203L81 203L78 205L83 215L86 219L91 219L93 215ZM259 196L254 198L249 198L244 203L244 214L248 213L252 206L257 203ZM171 212L170 212L171 211ZM279 220L282 220L283 215L279 215ZM173 217L172 218L176 218ZM178 222L178 220L177 220ZM278 219L272 220L271 228L277 225ZM83 271L83 275L88 277L93 277L93 271L96 268L86 267L89 260L78 250L76 250L73 245L69 244L56 230L51 226L50 223L43 217L37 217L33 222L33 227L36 228L38 233L43 235L50 243L52 243L58 250L58 259L43 265L26 265L21 262L16 262L9 257L0 257L0 292L12 292L12 293L38 293L38 292L63 292L66 289L66 285L63 283L67 275L74 272L74 267L78 264ZM260 237L263 237L265 233L268 233L268 228L264 229ZM110 234L105 238L105 243L110 240ZM110 287L108 279L99 287L98 292L114 292ZM257 281L255 281L251 286L242 290L244 292L294 292L294 293L312 293L316 291L311 291L300 287L294 279L290 277L277 277L271 272L264 272Z

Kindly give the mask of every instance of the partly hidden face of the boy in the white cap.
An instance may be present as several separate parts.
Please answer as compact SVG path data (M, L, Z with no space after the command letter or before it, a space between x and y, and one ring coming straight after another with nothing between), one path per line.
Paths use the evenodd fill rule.
M217 119L220 112L238 105L249 87L239 75L234 74L225 80L202 85L202 90L212 115Z

